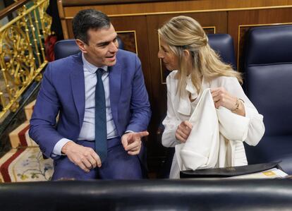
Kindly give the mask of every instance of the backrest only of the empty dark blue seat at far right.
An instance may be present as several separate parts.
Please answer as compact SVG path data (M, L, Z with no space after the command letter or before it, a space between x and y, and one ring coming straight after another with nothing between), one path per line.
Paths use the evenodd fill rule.
M292 25L251 28L246 43L246 92L265 134L292 135Z

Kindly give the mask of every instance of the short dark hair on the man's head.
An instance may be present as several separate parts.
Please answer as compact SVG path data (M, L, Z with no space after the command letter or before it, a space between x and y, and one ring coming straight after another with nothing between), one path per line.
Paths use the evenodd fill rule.
M109 17L101 11L96 11L95 9L86 9L79 11L76 14L76 16L73 18L72 25L75 39L82 40L88 44L88 30L109 28L111 26L111 22Z

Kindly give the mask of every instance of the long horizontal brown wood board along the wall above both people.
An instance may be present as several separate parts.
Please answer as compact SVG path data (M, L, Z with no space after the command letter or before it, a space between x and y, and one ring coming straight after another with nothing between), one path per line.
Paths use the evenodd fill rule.
M61 0L59 0L61 1ZM98 2L98 1L97 1ZM261 8L270 6L291 6L292 0L193 0L193 1L162 1L139 4L109 4L66 6L67 17L73 17L80 8L95 8L107 13L109 16L125 16L141 13L172 13L187 11L229 11L233 9Z

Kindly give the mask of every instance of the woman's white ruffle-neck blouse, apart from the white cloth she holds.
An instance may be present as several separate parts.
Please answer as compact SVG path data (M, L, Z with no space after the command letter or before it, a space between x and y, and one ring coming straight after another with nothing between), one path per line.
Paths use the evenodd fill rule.
M165 126L164 133L162 135L162 145L165 147L175 147L180 144L176 140L175 133L178 125L181 121L186 121L190 119L190 115L193 113L193 110L200 100L200 96L203 90L207 88L219 88L224 87L231 95L241 98L244 101L245 106L245 117L248 118L248 135L245 138L245 142L248 145L257 145L262 135L264 134L264 123L262 121L263 117L257 112L257 109L253 106L252 102L248 100L241 85L238 83L237 78L221 76L218 77L209 83L205 82L204 78L202 80L202 89L199 94L193 83L191 83L190 78L187 80L186 90L190 92L190 95L193 99L196 98L194 102L190 102L188 96L179 97L178 92L176 92L178 80L176 79L177 71L172 71L169 76L166 78L167 85L167 115L163 121ZM233 147L231 147L231 154L233 160L227 160L224 164L218 164L215 167L225 167L225 166L239 166L247 164L245 150L243 147L242 141L234 141ZM222 152L221 152L222 153ZM226 155L227 157L227 155ZM173 164L171 167L170 178L178 178L179 169L176 161L176 156L174 156Z

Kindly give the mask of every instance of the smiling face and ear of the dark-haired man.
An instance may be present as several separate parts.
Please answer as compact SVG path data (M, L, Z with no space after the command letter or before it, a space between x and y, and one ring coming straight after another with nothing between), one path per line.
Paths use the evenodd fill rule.
M113 66L116 64L116 52L118 52L117 34L114 26L99 30L87 31L88 44L76 40L85 59L95 66Z

